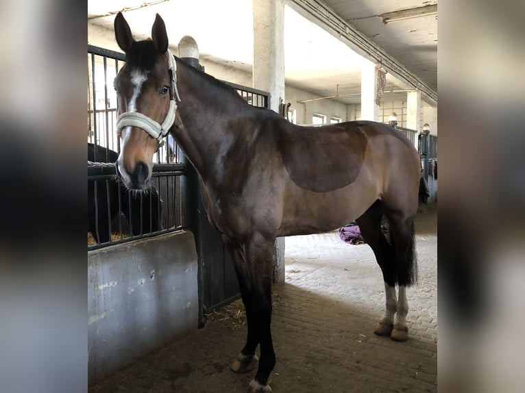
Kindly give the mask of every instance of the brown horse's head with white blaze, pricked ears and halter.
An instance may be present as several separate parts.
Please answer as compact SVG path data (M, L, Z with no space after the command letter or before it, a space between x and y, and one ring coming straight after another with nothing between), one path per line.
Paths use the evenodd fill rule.
M158 14L151 40L134 40L121 12L114 30L126 55L126 64L114 79L117 133L121 136L117 172L127 188L145 190L151 181L154 153L175 119L176 63Z

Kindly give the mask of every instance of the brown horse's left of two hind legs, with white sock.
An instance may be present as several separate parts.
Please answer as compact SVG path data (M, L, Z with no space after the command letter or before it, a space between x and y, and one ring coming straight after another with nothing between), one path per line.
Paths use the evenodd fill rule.
M398 309L398 300L395 296L395 254L393 246L384 238L381 229L382 204L376 201L359 217L356 222L361 235L369 244L381 268L386 296L385 310L382 318L374 329L377 335L391 335L394 326L394 316Z

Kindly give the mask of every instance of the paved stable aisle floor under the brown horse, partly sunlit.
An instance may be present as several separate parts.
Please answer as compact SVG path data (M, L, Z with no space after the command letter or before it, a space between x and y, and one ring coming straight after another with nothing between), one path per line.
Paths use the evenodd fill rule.
M286 238L286 283L273 289L273 392L437 391L436 213L431 205L417 215L407 342L374 335L384 287L369 246L345 244L337 232ZM243 307L232 303L89 392L245 392L254 372L230 371L245 329Z

